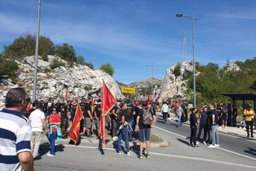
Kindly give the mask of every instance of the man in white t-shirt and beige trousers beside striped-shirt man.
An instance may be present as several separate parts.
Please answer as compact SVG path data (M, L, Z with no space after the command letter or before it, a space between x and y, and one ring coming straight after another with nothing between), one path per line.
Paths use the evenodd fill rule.
M45 114L41 111L41 103L39 103L39 101L36 100L33 102L33 106L36 106L36 110L31 112L29 120L31 120L32 128L31 153L33 155L33 158L36 158L38 155L38 149L42 139L42 130L43 128L46 129L46 121Z

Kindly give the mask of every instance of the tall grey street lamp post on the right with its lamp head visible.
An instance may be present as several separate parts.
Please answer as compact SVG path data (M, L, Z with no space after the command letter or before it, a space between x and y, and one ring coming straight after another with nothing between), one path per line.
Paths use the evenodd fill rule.
M192 19L192 53L193 53L193 107L196 108L196 62L195 62L195 19L192 13L192 16L185 16L182 13L177 13L176 17L185 17L188 19Z

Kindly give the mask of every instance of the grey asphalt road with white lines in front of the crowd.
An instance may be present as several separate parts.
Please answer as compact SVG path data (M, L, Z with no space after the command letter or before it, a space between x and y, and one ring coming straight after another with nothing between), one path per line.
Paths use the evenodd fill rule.
M68 141L58 142L57 155L49 157L45 155L49 146L44 140L42 158L35 161L35 170L256 170L254 141L220 135L221 148L209 149L203 144L193 148L186 140L190 134L188 126L177 129L173 122L164 124L161 120L152 132L170 145L151 149L152 158L143 160L137 158L136 145L131 146L133 155L127 156L118 155L112 143L98 149L97 143L84 140L79 146L68 145ZM252 151L246 152L248 148Z

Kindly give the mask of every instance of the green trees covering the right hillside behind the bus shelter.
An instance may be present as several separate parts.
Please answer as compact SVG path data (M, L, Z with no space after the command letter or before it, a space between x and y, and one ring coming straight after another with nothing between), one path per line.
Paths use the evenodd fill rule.
M237 69L230 70L229 62L223 68L211 62L208 65L196 64L198 105L228 102L228 98L220 93L256 93L256 57L233 64L237 65ZM186 73L184 76L188 79L188 93L193 89L192 76L192 73Z

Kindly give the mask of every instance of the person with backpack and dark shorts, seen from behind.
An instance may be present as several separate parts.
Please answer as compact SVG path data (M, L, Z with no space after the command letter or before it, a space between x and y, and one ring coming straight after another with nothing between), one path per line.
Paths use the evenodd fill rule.
M140 154L138 158L143 159L142 151L144 147L144 141L147 145L146 158L150 158L150 135L151 128L156 123L156 114L153 112L153 108L150 104L144 103L143 109L140 110L136 120L135 129L138 132L138 141L140 142Z

